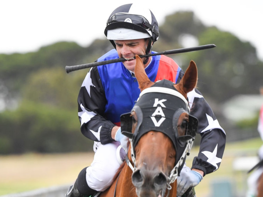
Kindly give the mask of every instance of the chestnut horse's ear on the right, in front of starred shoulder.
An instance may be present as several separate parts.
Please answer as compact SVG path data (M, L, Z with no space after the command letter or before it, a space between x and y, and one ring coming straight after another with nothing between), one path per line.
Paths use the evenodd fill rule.
M179 84L175 84L175 88L181 92L186 98L188 92L192 91L197 84L197 67L193 60L190 61L183 78Z

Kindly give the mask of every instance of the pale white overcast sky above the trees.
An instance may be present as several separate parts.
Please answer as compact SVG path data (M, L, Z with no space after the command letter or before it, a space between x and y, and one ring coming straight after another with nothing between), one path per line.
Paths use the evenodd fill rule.
M116 7L141 3L151 9L159 24L166 15L176 11L193 11L205 25L215 25L250 42L263 61L262 0L147 2L149 4L142 0L0 0L0 53L36 51L58 41L74 41L86 47L95 38L105 38L106 20Z

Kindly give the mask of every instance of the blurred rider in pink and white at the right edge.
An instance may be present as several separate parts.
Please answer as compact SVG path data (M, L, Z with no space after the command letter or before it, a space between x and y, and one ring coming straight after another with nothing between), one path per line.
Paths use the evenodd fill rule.
M260 88L260 95L263 96L263 86ZM263 104L259 112L259 121L257 125L257 130L263 141ZM259 160L261 161L263 159L263 145L259 148L257 154L258 154ZM247 191L246 197L256 197L257 196L257 180L259 179L262 173L263 173L263 166L255 169L251 173L251 175L247 179L248 191Z

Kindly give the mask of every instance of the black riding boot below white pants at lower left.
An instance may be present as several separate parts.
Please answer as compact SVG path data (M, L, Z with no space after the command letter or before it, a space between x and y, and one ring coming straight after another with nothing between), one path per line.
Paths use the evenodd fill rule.
M89 197L97 193L96 190L91 189L86 181L86 168L80 171L77 180L68 188L65 197Z

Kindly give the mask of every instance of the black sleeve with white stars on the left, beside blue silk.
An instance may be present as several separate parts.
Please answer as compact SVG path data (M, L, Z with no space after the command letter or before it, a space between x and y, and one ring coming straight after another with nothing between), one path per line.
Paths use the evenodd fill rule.
M103 117L107 103L97 67L90 69L78 95L78 115L82 134L102 144L113 141L111 130L115 126Z

